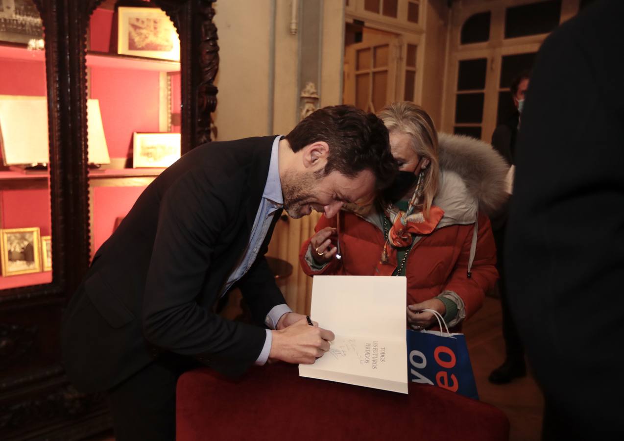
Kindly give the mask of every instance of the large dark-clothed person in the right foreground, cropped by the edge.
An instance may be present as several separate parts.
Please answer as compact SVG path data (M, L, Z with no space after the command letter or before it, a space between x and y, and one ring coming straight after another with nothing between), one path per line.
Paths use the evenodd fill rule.
M519 135L507 290L544 440L624 439L624 1L544 42Z

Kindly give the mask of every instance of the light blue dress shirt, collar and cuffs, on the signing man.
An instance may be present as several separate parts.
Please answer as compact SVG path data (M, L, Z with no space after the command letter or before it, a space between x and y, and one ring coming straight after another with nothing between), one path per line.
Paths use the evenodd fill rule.
M273 141L273 147L271 147L269 174L266 178L265 191L262 194L260 206L258 207L258 212L256 212L256 218L253 221L253 227L251 227L249 243L238 265L236 265L236 268L228 277L223 291L221 292L222 296L238 279L243 277L247 270L250 269L251 265L253 265L256 257L258 257L262 242L265 240L266 233L273 221L273 214L284 206L284 197L281 192L280 170L278 167L278 146L280 144L280 139L281 136L276 137L275 141ZM275 305L266 315L265 324L271 329L275 329L278 320L280 320L280 317L286 314L286 312L293 312L293 310L286 304ZM272 342L273 335L270 330L266 329L265 345L256 360L257 365L266 363L269 353L271 352Z

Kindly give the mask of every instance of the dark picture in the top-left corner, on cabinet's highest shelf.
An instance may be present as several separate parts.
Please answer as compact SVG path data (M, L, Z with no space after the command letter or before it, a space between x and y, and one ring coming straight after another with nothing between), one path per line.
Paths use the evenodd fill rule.
M43 26L32 0L0 0L0 40L15 43L42 41Z

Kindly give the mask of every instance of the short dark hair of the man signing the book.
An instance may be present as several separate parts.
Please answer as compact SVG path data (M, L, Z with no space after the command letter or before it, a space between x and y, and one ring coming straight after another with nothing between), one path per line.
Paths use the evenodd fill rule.
M314 142L329 146L326 176L336 170L348 177L369 169L378 189L388 187L396 173L396 161L390 152L388 129L372 113L353 106L323 107L300 121L286 136L293 152Z

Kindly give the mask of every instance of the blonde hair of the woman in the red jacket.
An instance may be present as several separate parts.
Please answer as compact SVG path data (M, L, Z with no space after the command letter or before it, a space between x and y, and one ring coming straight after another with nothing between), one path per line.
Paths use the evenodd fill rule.
M439 184L440 167L437 159L437 131L431 117L413 102L393 102L378 114L388 132L411 136L412 149L421 158L429 159L422 187L422 212L429 218L429 210Z

